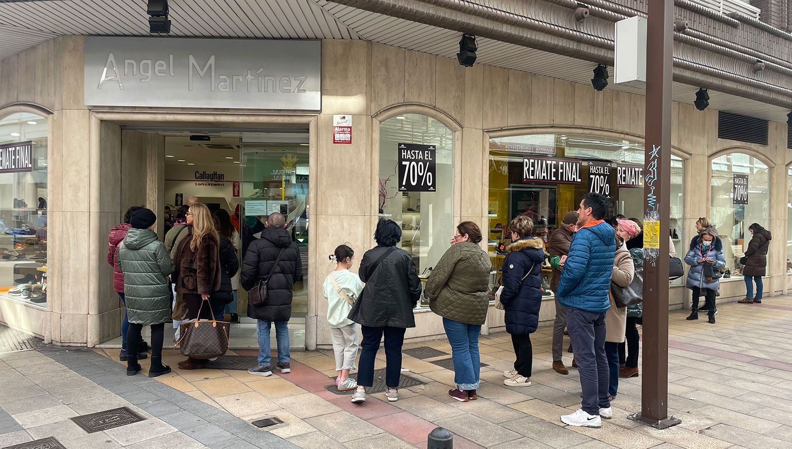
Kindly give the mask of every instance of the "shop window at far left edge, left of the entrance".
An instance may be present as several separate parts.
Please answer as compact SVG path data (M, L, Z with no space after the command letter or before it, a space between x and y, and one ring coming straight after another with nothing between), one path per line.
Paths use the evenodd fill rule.
M0 118L0 297L47 307L47 119Z

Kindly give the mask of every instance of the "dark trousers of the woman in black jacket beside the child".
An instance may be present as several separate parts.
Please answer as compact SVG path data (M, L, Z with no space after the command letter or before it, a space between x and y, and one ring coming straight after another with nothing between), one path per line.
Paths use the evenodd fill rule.
M360 364L357 368L357 384L362 387L374 385L374 360L379 352L379 341L385 337L385 385L397 388L402 377L403 327L360 326L363 341L360 343Z

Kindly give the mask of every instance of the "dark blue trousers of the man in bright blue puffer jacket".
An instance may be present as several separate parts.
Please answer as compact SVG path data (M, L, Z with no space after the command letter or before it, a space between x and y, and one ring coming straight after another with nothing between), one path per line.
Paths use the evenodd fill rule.
M605 355L605 312L567 308L566 328L575 349L577 372L581 376L583 401L581 409L589 415L600 415L607 409L611 372Z

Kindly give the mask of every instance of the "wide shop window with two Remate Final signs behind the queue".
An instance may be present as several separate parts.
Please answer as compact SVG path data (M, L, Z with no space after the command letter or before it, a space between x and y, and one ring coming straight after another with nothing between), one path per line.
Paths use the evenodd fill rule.
M643 221L644 148L642 143L574 134L531 134L489 141L489 256L491 285L497 284L505 247L506 227L513 217L528 215L534 236L547 242L565 213L577 210L588 191L612 199L607 219L622 214ZM672 156L671 221L668 235L679 255L683 243L684 161ZM546 247L546 250L549 248ZM552 296L552 270L543 267L543 295ZM672 281L672 285L680 284Z

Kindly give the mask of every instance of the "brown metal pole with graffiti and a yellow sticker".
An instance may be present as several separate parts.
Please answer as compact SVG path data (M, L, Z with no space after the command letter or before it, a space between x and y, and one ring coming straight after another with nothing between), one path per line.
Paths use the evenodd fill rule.
M646 28L644 303L641 413L655 428L668 417L668 215L671 188L671 81L674 0L649 2Z

